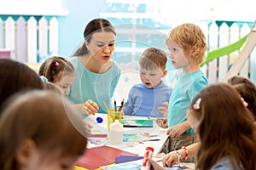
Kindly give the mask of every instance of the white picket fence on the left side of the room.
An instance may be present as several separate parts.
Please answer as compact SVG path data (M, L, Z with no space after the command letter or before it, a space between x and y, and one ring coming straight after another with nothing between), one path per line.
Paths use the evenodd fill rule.
M43 16L37 21L33 16L29 20L9 16L0 25L0 48L9 49L12 59L37 63L39 56L58 54L59 24L55 17L48 21Z

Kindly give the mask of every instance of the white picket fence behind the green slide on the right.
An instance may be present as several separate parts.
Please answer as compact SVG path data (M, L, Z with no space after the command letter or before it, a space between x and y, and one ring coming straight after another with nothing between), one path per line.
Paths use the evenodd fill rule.
M246 23L239 27L236 22L230 27L227 26L226 23L218 26L215 22L212 22L210 26L205 26L204 24L200 26L207 36L208 51L236 42L241 37L246 36L251 30ZM240 50L241 49L218 59L214 59L207 65L201 67L201 70L205 72L210 83L220 82L224 79L229 66L237 59ZM255 50L256 49L254 49L254 51ZM242 67L240 75L249 78L252 76L255 77L256 73L250 71L252 70L252 64L250 59L247 59L247 63Z

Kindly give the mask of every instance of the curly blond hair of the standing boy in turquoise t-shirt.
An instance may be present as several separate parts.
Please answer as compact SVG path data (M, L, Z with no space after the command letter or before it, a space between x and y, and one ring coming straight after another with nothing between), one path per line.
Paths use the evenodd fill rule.
M206 37L199 26L186 23L173 28L166 37L167 43L175 42L177 46L182 47L185 52L193 50L192 58L200 64L207 51Z

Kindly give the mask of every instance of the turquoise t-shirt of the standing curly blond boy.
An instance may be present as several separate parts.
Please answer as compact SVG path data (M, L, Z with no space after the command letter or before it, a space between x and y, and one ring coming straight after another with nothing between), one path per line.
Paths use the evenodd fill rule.
M177 82L172 89L172 95L168 108L168 127L172 127L187 120L187 110L192 99L198 94L202 88L207 87L207 77L202 71L195 71L186 75L177 77ZM192 128L185 131L186 133L194 133Z

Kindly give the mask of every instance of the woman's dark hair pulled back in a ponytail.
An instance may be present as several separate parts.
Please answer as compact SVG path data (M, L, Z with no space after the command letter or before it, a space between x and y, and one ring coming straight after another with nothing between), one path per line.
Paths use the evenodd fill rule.
M116 35L116 32L112 26L112 24L105 19L95 19L91 20L84 29L84 40L90 43L91 37L95 32L113 32ZM73 56L79 56L88 54L88 49L85 44L83 45L73 54Z

